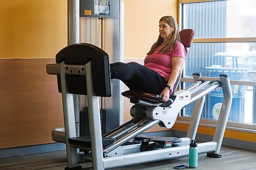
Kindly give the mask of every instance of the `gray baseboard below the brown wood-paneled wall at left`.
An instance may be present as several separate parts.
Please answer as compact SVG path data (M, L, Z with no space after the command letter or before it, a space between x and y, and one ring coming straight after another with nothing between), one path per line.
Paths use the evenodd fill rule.
M7 148L0 150L0 158L23 156L60 150L66 150L66 145L64 143L47 143L30 145L26 147Z

